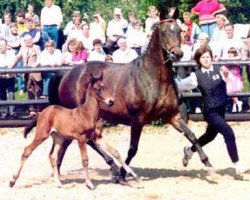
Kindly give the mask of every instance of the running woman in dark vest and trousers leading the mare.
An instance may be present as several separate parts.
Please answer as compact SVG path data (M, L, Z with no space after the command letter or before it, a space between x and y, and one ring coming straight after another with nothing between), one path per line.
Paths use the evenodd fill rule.
M177 85L180 90L188 90L197 86L200 88L204 104L203 116L208 126L206 132L198 139L198 142L203 147L213 141L218 133L221 133L229 157L235 166L235 172L241 174L246 169L239 161L234 132L225 121L228 99L225 81L228 79L229 71L226 67L214 67L212 58L212 51L209 47L199 48L194 57L199 69L190 77L182 81L177 80ZM184 166L188 165L194 152L196 152L195 146L184 148L182 160Z

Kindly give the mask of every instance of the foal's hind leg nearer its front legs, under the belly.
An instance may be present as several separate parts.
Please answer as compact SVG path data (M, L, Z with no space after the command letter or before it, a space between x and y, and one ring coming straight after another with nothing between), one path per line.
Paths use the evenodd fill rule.
M63 143L63 138L60 137L56 133L52 133L51 136L53 138L53 145L52 145L52 148L51 148L51 151L49 154L49 160L50 160L50 164L52 167L53 176L54 176L56 186L60 188L60 187L62 187L62 183L61 183L60 178L59 178L59 172L58 172L56 160L57 160L58 152L59 152L59 150L62 146L62 143Z

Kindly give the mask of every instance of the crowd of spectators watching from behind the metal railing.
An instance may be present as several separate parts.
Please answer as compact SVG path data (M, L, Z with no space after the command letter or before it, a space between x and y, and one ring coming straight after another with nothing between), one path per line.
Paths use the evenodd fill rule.
M55 67L93 60L130 62L141 55L149 41L152 25L160 20L155 6L148 8L145 26L136 13L130 12L124 17L120 8L114 8L113 19L107 23L99 11L87 23L82 19L81 12L75 10L72 20L63 29L61 8L53 0L45 0L44 3L40 16L34 13L32 4L28 5L26 13L18 11L15 19L10 13L3 15L0 26L0 67ZM211 47L214 60L249 57L249 43L234 35L234 25L221 14L224 10L225 7L216 0L201 0L191 12L183 13L180 18L183 22L178 20L182 30L183 61L192 60L195 51L204 45ZM193 14L199 16L199 25L192 21ZM233 57L229 52L232 47L236 51ZM242 66L228 68L237 76L238 82L242 82ZM20 96L27 91L28 99L46 98L52 75L1 75L0 99L15 98L15 82ZM237 87L237 91L235 86L230 87L230 92L242 90L242 87ZM242 102L237 98L233 98L233 102L233 111L241 111ZM1 108L2 117L17 117L13 106ZM37 109L31 106L29 112L30 117L35 116Z

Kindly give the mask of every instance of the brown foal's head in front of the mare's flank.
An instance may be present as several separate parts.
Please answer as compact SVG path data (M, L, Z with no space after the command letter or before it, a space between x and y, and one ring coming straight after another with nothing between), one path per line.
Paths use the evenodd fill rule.
M102 79L103 74L99 77L94 77L90 74L90 87L93 90L97 101L103 102L108 106L112 106L114 104L114 99L109 93L108 88L103 84Z

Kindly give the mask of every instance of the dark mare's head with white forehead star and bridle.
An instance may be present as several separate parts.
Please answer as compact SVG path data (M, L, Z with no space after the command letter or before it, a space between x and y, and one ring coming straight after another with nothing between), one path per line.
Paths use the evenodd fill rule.
M175 19L169 18L160 21L160 38L162 48L172 61L179 60L183 56L181 50L181 28Z

